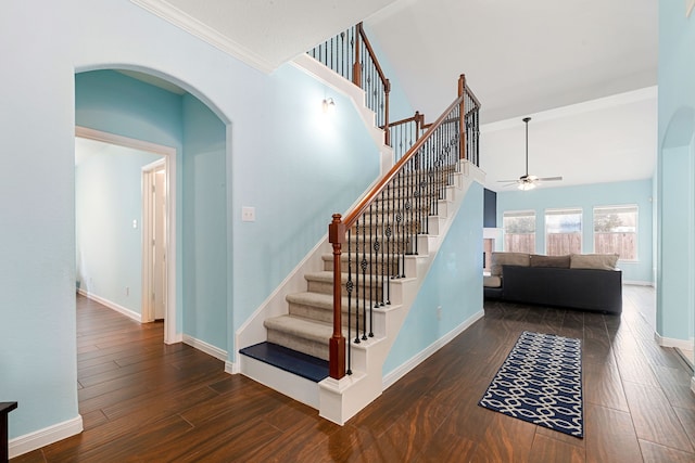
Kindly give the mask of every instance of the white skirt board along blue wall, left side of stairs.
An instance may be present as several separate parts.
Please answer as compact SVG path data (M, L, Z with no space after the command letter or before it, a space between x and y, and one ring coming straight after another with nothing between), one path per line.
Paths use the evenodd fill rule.
M346 95L352 101L361 118L364 120L365 128L369 131L379 150L381 166L380 175L348 209L352 210L357 204L359 204L359 201L365 196L365 194L367 194L374 185L381 180L381 177L383 177L384 173L393 166L393 149L384 144L383 130L376 127L376 115L365 104L365 91L363 89L344 79L306 53L296 56L292 61L292 65L304 70L313 78L331 87L333 90ZM328 229L328 221L326 222L326 228ZM247 374L247 369L244 368L245 363L241 361L239 350L266 340L266 329L263 325L264 320L288 313L288 305L286 300L287 295L305 291L306 280L304 280L304 274L321 270L324 265L321 256L329 253L332 253L332 248L330 243L328 243L328 234L326 234L266 298L266 300L264 300L251 317L249 317L249 319L247 319L247 321L237 330L235 336L236 353L233 356L233 363L229 361L227 362L226 371L228 373ZM247 375L249 376L249 374ZM261 381L261 378L256 377L254 377L254 380L270 386L267 384L269 382L267 380ZM304 400L301 401L305 402Z

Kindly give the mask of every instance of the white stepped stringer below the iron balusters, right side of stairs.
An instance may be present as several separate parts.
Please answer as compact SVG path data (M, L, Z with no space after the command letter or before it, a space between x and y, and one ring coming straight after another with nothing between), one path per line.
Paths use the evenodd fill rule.
M447 216L440 222L438 235L424 235L424 249L417 256L407 256L406 266L414 272L412 278L394 280L392 283L392 304L386 309L375 309L375 337L358 345L352 344L352 375L341 380L328 377L319 383L319 415L343 425L363 410L383 391L383 362L386 361L403 322L415 303L420 286L453 224L468 188L478 182L484 184L484 172L468 162L462 162L462 173L447 194Z

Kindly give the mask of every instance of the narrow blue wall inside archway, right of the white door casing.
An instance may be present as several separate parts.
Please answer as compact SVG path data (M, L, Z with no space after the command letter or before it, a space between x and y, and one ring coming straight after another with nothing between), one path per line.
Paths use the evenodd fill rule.
M227 349L225 125L184 95L184 333Z

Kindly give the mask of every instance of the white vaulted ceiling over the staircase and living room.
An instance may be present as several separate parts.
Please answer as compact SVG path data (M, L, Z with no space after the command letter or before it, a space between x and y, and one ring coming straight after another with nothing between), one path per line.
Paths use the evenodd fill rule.
M364 21L429 120L466 74L493 190L523 173L525 116L529 172L564 177L547 187L654 171L656 0L131 1L267 72Z

